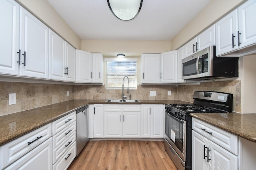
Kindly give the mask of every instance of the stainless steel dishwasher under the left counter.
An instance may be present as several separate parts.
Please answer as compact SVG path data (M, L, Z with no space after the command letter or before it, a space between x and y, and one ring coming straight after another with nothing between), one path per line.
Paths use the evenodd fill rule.
M88 141L88 105L86 105L76 110L76 156Z

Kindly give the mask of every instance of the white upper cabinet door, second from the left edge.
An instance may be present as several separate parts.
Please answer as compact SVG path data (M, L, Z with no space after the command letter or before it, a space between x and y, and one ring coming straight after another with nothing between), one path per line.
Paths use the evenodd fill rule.
M20 8L20 75L48 78L48 27Z

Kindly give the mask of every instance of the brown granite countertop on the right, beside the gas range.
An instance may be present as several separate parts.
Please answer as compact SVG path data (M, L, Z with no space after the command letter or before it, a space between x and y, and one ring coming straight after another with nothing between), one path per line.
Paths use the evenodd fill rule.
M190 113L192 117L256 142L255 113Z

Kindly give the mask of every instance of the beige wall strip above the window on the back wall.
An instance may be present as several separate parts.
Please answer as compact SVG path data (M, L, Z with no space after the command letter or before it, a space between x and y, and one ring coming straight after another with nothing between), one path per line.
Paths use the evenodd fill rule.
M163 53L171 50L170 41L82 40L82 50L92 53Z

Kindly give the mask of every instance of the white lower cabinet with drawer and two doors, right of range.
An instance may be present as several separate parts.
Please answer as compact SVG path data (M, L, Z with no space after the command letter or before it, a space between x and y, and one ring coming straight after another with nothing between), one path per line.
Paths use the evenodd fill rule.
M200 128L202 132L194 128L195 124L199 124L199 122L202 123ZM222 139L226 139L232 143L231 145L236 145L236 149L238 149L238 141L232 141L232 137L227 137L228 132L211 127L212 125L208 123L192 118L192 170L238 170L238 154L233 154L230 151L232 148L227 150L221 147ZM214 137L211 135L216 133L223 134L219 141L212 140ZM231 133L229 134L233 136Z

